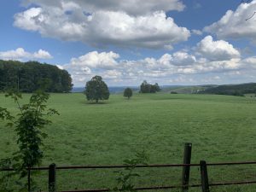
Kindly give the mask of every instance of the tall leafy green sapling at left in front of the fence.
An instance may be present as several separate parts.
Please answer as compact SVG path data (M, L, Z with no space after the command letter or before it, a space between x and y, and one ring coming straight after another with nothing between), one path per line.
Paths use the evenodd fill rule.
M24 105L20 105L19 100L22 98L20 93L9 92L6 96L10 96L15 101L19 113L15 118L7 108L0 108L0 119L7 120L9 127L15 126L19 150L12 158L13 167L20 174L20 178L28 177L26 185L28 191L31 191L30 168L39 166L44 156L40 147L44 145L43 139L47 134L42 129L51 123L47 117L59 113L53 108L47 109L45 103L49 99L49 94L41 91L32 94L29 103Z

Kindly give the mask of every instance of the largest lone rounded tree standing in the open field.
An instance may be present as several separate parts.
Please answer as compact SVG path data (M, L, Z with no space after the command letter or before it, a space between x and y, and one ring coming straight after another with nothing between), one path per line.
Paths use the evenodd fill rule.
M102 81L101 76L95 76L90 81L88 81L85 85L84 94L88 101L96 101L99 100L108 100L109 98L109 90L108 85Z

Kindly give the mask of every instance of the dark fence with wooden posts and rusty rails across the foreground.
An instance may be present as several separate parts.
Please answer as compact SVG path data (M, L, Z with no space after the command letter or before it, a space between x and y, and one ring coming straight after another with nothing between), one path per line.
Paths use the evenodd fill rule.
M201 188L202 192L210 192L210 187L224 186L224 185L237 185L237 184L253 184L252 181L234 181L234 182L222 182L222 183L209 183L209 177L207 172L208 166L236 166L236 165L256 165L256 161L243 161L243 162L219 162L219 163L207 163L206 160L201 160L199 164L191 164L191 151L192 144L185 143L183 164L150 164L150 165L137 165L137 168L152 168L152 167L183 167L182 180L180 185L169 186L151 186L151 187L137 187L136 190L156 190L156 189L181 189L183 192L188 192L189 188ZM201 183L189 184L189 172L190 167L195 166L200 168ZM45 167L33 167L31 170L48 171L49 172L49 192L56 192L57 189L57 171L58 170L82 170L82 169L123 169L129 166L124 165L112 165L112 166L56 166L51 164ZM12 168L1 169L2 172L15 171ZM77 190L62 190L58 192L102 192L110 191L110 189L77 189Z

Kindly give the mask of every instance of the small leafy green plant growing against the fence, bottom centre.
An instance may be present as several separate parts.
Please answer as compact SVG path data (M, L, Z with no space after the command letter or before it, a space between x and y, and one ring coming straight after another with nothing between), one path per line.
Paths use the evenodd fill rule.
M113 188L113 191L137 191L133 184L133 180L140 175L136 172L137 165L148 165L148 154L143 152L137 152L136 157L133 159L124 160L125 172L118 172L119 177L116 178L117 186Z

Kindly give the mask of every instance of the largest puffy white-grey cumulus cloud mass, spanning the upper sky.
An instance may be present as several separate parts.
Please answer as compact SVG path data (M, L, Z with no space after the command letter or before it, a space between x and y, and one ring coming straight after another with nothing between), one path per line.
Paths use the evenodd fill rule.
M107 1L28 2L39 7L16 14L14 25L40 32L44 37L81 41L93 46L172 49L173 44L186 41L190 36L186 27L177 26L166 16L167 10L183 9L178 0L146 3L108 0L109 4Z

